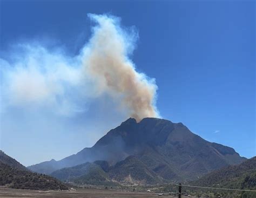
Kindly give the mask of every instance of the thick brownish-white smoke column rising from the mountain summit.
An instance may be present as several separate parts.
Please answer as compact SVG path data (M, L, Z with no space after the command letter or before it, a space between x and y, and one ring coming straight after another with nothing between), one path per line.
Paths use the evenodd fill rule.
M120 94L122 105L137 121L145 117L158 117L154 100L157 86L154 80L147 80L143 73L138 73L127 56L133 50L136 34L127 35L118 26L118 19L106 16L90 15L98 26L86 49L84 65L98 89L116 98ZM129 51L130 50L130 51Z

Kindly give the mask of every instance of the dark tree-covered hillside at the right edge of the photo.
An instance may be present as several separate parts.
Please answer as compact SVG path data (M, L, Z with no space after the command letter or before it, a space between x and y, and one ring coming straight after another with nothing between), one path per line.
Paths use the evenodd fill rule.
M256 190L256 156L240 165L230 165L214 170L191 182L192 185ZM235 192L237 197L256 197L256 193ZM240 196L242 195L242 196Z

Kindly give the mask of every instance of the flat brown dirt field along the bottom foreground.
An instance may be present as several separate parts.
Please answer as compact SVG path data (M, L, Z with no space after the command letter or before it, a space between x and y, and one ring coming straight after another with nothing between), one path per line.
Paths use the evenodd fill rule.
M160 197L173 197L167 193ZM103 189L78 189L76 192L58 192L58 191L41 191L41 190L20 190L10 188L0 188L0 197L44 197L44 198L109 198L109 197L131 197L131 198L151 198L159 197L158 193L138 193L122 192L119 190Z

